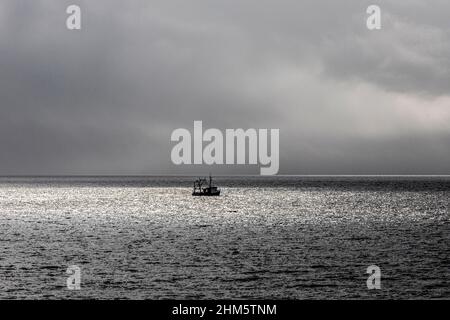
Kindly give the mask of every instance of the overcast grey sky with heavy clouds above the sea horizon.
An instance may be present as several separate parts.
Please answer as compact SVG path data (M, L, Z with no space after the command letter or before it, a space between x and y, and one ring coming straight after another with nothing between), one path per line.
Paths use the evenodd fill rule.
M450 174L449 14L447 0L3 0L0 175L259 174L172 164L171 133L194 120L279 129L279 174Z

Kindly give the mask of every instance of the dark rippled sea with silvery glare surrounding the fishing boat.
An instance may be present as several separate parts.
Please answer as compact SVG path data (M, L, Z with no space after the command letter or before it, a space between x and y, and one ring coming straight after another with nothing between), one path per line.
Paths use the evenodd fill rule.
M0 298L450 298L450 177L193 181L0 178Z

